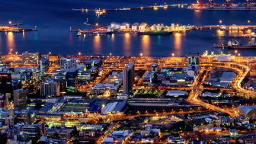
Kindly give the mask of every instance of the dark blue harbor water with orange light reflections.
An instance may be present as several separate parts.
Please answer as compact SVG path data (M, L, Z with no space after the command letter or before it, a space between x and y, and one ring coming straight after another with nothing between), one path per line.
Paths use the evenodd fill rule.
M188 31L187 34L172 35L151 35L143 36L137 34L112 34L112 35L84 35L77 37L77 33L69 32L77 29L90 29L83 24L88 18L89 24L110 25L111 22L123 23L135 22L146 24L168 24L179 25L218 25L221 24L256 24L254 15L256 11L191 11L184 7L168 8L143 8L130 11L107 11L100 17L95 17L94 11L82 12L72 11L72 8L130 8L155 5L164 5L166 1L143 1L143 0L95 0L95 1L3 1L0 5L2 17L1 24L20 23L19 27L31 28L37 26L37 31L27 31L24 33L0 33L0 53L7 54L10 47L13 52L22 53L24 51L40 53L53 53L60 55L77 55L94 53L124 56L184 56L190 52L215 51L221 53L222 49L213 49L213 44L228 43L235 39L239 43L247 45L255 38L249 37L213 37L214 35L242 35L251 34L254 30L245 32L220 31L218 29L202 29ZM166 4L194 3L196 1L169 1ZM215 2L226 2L216 0ZM244 1L235 1L235 3ZM13 5L15 4L15 5ZM250 21L250 23L248 23ZM223 50L224 53L235 54L235 50ZM238 50L241 56L254 56L256 50Z

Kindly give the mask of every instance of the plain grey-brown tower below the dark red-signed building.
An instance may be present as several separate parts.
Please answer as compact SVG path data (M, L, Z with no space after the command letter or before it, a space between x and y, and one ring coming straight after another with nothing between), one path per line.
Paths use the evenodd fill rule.
M27 110L27 91L23 89L14 91L14 107L16 106L19 110Z

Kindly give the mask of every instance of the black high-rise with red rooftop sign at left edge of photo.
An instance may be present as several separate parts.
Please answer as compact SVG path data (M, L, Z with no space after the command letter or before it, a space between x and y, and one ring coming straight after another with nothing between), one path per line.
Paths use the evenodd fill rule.
M0 72L0 93L11 97L11 73Z

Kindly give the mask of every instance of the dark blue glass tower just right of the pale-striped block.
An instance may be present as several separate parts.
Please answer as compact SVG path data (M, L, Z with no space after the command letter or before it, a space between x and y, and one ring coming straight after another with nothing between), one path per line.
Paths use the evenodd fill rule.
M69 69L66 74L67 92L77 91L78 69Z

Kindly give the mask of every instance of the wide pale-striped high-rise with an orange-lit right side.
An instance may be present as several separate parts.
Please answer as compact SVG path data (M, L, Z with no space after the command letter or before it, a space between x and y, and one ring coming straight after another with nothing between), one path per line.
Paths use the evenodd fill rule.
M59 96L59 82L47 78L45 82L40 83L40 94L47 97Z

